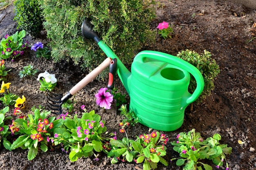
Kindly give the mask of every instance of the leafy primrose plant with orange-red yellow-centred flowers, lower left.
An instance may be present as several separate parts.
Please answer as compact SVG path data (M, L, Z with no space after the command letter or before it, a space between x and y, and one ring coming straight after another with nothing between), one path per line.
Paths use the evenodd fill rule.
M19 135L19 137L11 144L11 150L21 147L28 149L27 158L32 160L38 154L38 150L46 152L48 150L48 142L54 127L55 117L47 119L51 111L34 110L33 114L28 114L13 121L9 126L11 133Z

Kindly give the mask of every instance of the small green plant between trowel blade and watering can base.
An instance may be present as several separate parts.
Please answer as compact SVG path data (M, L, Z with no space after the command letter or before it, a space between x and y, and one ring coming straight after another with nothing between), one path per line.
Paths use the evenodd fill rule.
M139 118L136 118L133 111L127 111L126 105L122 105L118 110L121 111L120 115L125 116L125 119L122 120L123 124L128 122L131 126L135 126L139 122Z

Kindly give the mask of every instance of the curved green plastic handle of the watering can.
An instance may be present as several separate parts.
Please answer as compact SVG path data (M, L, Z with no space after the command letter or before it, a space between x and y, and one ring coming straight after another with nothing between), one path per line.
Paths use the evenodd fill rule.
M156 59L159 61L164 61L166 63L170 63L172 65L175 65L179 68L182 68L183 70L186 70L187 72L189 72L190 74L192 74L196 80L196 89L193 92L193 94L191 96L188 96L188 98L186 99L186 104L189 105L192 102L194 102L202 93L203 89L204 89L204 79L203 76L201 74L201 72L192 64L178 58L175 57L171 54L166 54L164 52L157 52L157 51L149 51L149 50L145 50L145 51L141 51L137 54L139 58L139 60L141 60L141 62L143 62L144 58L151 58L151 59ZM138 58L137 58L138 59Z

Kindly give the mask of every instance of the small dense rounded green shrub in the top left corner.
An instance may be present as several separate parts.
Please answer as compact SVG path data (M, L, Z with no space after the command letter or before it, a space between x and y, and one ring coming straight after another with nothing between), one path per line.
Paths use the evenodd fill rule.
M13 5L17 29L24 29L31 36L36 37L43 29L43 16L38 0L15 0Z

